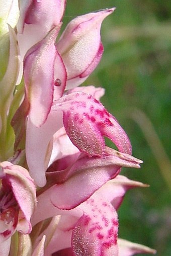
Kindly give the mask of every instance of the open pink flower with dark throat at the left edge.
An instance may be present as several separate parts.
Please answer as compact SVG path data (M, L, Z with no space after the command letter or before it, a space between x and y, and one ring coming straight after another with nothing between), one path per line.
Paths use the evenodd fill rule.
M30 218L37 204L36 188L25 168L8 161L0 163L0 178L0 248L6 244L8 251L16 230L23 234L32 230Z

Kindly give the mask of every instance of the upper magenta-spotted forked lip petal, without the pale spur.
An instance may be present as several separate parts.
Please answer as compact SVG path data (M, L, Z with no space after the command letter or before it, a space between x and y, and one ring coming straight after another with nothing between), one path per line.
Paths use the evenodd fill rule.
M110 138L119 151L131 154L128 136L118 121L89 94L66 95L54 102L52 111L63 111L63 123L72 143L89 156L101 156L105 150L103 136Z

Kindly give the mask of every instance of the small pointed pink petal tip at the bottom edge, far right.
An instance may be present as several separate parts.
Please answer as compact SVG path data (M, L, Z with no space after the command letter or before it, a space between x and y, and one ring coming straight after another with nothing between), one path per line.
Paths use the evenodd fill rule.
M118 239L119 256L132 256L137 253L151 253L155 254L156 250L147 246L133 243L124 239Z

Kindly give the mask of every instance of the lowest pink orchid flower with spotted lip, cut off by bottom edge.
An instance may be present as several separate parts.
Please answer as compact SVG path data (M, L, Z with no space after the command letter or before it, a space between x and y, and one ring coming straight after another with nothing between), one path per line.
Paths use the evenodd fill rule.
M128 189L146 186L126 177L117 176L103 185L89 199L69 211L59 209L54 197L58 200L62 194L53 193L55 187L49 188L38 196L38 207L32 216L32 224L34 226L39 221L54 217L48 227L38 236L37 242L41 237L46 236L46 256L52 253L60 256L87 256L93 253L95 255L118 255L118 250L119 256L155 253L155 250L146 246L129 244L128 241L123 243L122 239L117 238L118 217L114 206L121 204ZM81 191L79 187L77 190ZM72 201L74 198L76 200L76 196L73 195Z

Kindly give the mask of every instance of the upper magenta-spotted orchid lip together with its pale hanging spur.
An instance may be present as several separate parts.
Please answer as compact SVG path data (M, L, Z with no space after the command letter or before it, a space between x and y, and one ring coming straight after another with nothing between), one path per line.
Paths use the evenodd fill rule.
M89 156L104 155L103 136L109 137L121 152L131 153L131 145L126 133L103 105L90 94L71 91L70 94L54 102L54 107L41 127L33 125L30 119L27 122L27 163L30 174L40 187L46 184L45 172L53 147L53 135L63 125L73 145Z

